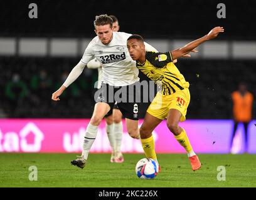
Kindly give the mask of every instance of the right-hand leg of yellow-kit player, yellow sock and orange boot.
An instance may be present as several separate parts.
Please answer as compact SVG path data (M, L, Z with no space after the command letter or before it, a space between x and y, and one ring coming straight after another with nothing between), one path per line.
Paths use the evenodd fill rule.
M179 126L179 121L181 120L181 112L177 109L170 109L167 116L167 126L171 133L174 134L176 140L183 146L183 148L188 153L188 158L191 163L191 167L193 170L200 169L201 163L196 156L193 148L189 142L186 131Z

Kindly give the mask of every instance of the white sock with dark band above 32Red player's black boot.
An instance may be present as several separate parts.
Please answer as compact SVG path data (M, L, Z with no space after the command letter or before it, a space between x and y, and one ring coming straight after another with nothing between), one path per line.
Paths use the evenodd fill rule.
M95 141L97 132L98 132L98 126L93 126L92 124L89 123L85 132L85 139L83 139L82 156L84 159L88 158L90 148L92 148L92 144Z

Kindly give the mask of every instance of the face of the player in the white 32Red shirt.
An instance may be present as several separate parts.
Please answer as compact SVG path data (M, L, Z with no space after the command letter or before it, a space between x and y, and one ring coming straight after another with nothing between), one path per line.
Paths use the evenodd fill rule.
M112 39L113 29L110 27L110 24L106 24L103 26L96 26L95 32L99 37L102 44L109 44Z

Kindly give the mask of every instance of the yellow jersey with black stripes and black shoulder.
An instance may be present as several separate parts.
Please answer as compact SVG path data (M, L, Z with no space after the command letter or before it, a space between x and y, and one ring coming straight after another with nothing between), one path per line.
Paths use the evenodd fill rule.
M149 79L162 87L162 94L169 95L189 88L189 83L172 63L171 52L154 53L146 52L146 61L141 64L137 61L137 68Z

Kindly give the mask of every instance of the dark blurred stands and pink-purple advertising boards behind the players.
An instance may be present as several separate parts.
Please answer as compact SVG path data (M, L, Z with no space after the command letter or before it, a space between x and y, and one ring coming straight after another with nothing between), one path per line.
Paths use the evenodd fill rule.
M83 129L93 111L97 70L86 68L60 102L51 101L51 94L95 36L95 15L114 14L120 31L141 34L159 51L180 47L212 27L225 27L225 34L176 65L190 83L191 103L184 126L191 128L188 135L196 152L229 153L230 94L241 81L256 94L255 1L221 1L227 8L225 19L216 17L219 1L33 1L38 19L29 19L31 2L0 2L0 152L80 152ZM141 118L146 108L144 104ZM249 125L250 153L256 153L254 124ZM93 152L110 151L104 126L102 122ZM243 153L242 126L237 133L233 150ZM156 141L157 152L184 152L164 123L155 136L170 138ZM124 152L142 152L127 133L123 144Z

